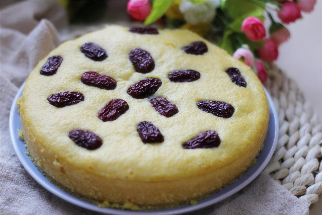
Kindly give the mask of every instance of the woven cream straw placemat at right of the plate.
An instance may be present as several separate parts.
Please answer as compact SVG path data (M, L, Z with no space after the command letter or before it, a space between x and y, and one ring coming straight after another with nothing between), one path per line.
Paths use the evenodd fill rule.
M297 84L275 64L266 65L269 78L264 85L277 109L279 139L263 172L313 204L322 192L321 122Z

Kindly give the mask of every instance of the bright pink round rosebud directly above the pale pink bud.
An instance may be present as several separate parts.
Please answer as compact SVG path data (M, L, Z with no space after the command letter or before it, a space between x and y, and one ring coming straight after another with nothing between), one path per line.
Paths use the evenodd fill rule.
M259 18L254 16L247 17L242 22L242 32L252 41L260 41L266 36L264 24Z

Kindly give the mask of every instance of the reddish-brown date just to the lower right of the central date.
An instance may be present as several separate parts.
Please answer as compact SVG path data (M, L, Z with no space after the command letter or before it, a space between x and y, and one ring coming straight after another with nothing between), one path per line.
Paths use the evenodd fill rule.
M177 106L164 97L152 98L150 99L150 103L157 112L165 117L173 116L179 112Z

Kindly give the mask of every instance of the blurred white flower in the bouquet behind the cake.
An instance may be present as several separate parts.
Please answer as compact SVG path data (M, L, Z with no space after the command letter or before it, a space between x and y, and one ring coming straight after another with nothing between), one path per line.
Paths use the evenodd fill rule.
M193 4L190 1L181 1L179 10L189 24L209 23L216 15L216 8L220 1L205 1L202 4Z

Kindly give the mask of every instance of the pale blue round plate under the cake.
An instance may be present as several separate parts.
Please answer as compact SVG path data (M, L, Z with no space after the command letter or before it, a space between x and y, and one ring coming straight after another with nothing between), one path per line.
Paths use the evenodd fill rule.
M12 140L12 144L14 146L14 151L16 152L20 162L24 166L24 168L29 172L29 174L45 189L52 192L56 196L69 201L72 204L78 205L80 207L94 210L103 213L109 213L114 215L125 215L125 214L180 214L185 212L190 212L193 210L201 209L206 206L212 205L216 202L219 202L232 194L240 191L243 187L249 184L252 180L254 180L259 173L265 168L267 163L270 161L270 158L273 155L273 152L276 147L277 139L278 139L278 118L277 113L274 107L274 103L270 97L270 94L265 90L269 105L270 105L270 122L268 126L267 136L264 142L264 147L260 154L257 157L257 163L251 167L249 171L245 173L245 175L238 179L233 184L229 185L227 188L216 192L212 196L200 200L196 205L184 205L177 208L164 209L164 210L152 210L152 211L130 211L130 210L121 210L121 209L113 209L113 208L99 208L97 205L78 199L71 194L58 189L55 185L49 182L46 177L33 165L33 162L30 161L29 157L25 154L26 147L24 147L24 142L18 137L17 129L21 129L21 121L20 115L18 114L18 107L16 106L17 99L22 95L22 90L24 88L24 84L20 87L18 93L14 97L14 101L11 106L10 118L9 118L9 127L10 127L10 136Z

